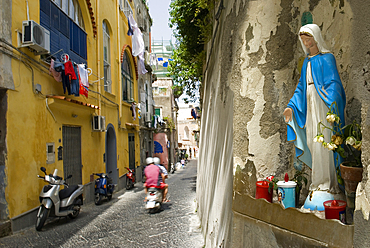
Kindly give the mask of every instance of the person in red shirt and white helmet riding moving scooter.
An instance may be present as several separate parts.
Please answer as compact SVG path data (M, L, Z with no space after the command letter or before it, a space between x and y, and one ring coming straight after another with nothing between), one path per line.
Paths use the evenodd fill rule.
M155 187L162 189L163 192L163 201L166 199L166 193L168 185L165 184L163 181L165 180L164 174L161 172L159 166L154 164L154 159L152 157L148 157L146 159L147 166L145 167L144 174L146 177L146 181L144 183L144 191L145 195L148 192L149 187ZM146 198L145 198L146 200Z

